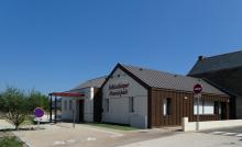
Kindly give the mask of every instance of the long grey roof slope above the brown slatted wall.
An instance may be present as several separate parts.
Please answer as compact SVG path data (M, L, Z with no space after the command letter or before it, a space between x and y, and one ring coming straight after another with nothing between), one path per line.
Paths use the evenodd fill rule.
M201 83L204 93L211 93L211 94L226 94L224 92L220 91L219 89L215 88L213 86L209 84L202 79L186 77L180 75L173 75L168 72L145 69L140 67L127 66L121 65L123 68L129 70L135 77L141 79L147 86L153 88L163 88L163 89L173 89L173 90L180 90L180 91L194 91L194 86L196 83Z

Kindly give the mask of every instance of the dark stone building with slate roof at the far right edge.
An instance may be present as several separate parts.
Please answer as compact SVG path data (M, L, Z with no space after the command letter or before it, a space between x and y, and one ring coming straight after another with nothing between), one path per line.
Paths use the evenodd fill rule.
M204 78L234 97L231 113L242 118L242 50L212 56L199 56L188 76ZM235 110L235 112L233 112Z

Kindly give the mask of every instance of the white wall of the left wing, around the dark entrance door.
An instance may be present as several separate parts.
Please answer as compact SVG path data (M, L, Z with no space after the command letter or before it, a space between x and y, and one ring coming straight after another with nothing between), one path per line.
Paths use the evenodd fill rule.
M84 121L94 122L94 88L85 88L78 92L85 93L84 100ZM73 100L73 110L69 110L69 100ZM79 120L79 98L63 98L62 99L62 118L73 121L73 111L76 109L76 121ZM65 101L67 101L67 110L65 110Z

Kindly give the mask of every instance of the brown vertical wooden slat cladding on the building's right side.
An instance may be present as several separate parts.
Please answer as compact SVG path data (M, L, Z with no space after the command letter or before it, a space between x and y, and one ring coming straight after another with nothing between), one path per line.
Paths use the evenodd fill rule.
M185 99L185 97L187 99ZM166 98L172 99L172 115L163 115L163 101ZM194 95L193 93L179 92L179 91L166 91L152 89L151 92L151 126L175 126L182 124L182 117L187 116L190 122L196 121L194 115ZM209 95L202 94L204 100L228 102L229 97ZM229 118L229 104L228 104L228 117ZM220 116L215 115L200 115L200 121L216 121L220 120Z

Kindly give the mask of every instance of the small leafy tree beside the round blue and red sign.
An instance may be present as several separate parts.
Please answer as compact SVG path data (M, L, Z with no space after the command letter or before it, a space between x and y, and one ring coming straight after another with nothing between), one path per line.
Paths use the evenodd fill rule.
M6 113L6 117L15 126L15 129L19 128L30 112L26 95L23 91L13 87L8 87L1 94L0 106L1 111Z

